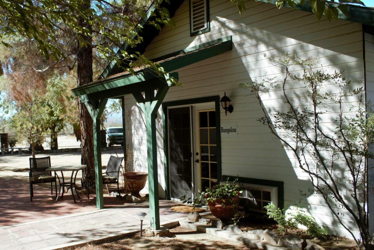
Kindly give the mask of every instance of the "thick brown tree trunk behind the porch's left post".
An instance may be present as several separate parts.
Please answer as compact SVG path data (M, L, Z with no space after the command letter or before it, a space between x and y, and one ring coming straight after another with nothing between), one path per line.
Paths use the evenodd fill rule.
M88 9L90 6L88 4L82 4L84 9ZM90 31L92 27L85 23L83 18L78 18L80 26L83 26ZM78 86L86 85L92 82L92 38L90 36L82 35L82 39L87 41L87 44L82 46L79 41L77 44L77 78ZM79 120L80 120L80 130L81 130L81 149L82 158L81 164L87 165L86 171L83 173L83 179L87 174L92 173L91 169L95 169L94 154L93 154L93 124L92 118L89 114L84 103L78 99L78 109L79 109ZM84 185L86 181L82 182Z

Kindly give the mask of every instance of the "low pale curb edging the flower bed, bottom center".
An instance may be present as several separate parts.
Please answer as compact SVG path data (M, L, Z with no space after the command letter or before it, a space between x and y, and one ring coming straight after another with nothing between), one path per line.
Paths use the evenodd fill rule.
M289 248L287 247L275 246L262 240L252 240L252 239L249 239L248 237L245 237L245 235L234 234L227 230L217 228L217 226L207 225L206 223L204 224L202 222L193 222L193 221L189 221L188 219L183 219L179 221L179 224L183 226L184 228L188 228L188 229L199 231L199 232L204 232L204 233L211 234L217 237L225 238L227 240L236 241L238 243L242 243L242 244L245 244L251 247L255 247L257 249L289 250Z

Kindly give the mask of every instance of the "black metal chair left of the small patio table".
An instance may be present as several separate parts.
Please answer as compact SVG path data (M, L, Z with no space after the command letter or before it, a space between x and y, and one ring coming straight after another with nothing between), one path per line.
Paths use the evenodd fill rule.
M55 193L57 197L57 182L56 175L52 176L52 173L45 171L50 167L50 157L41 158L29 158L30 160L30 171L28 172L28 180L30 182L30 199L33 201L34 190L33 184L48 183L50 182L50 194L53 194L52 182L55 182Z

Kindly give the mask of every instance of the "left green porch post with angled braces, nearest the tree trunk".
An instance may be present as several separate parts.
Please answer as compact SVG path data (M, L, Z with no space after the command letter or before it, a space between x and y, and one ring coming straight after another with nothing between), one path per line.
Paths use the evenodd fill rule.
M104 208L104 198L102 193L102 170L101 170L101 138L100 138L100 118L104 111L108 99L101 101L85 102L93 120L93 151L95 155L95 187L96 187L96 207Z

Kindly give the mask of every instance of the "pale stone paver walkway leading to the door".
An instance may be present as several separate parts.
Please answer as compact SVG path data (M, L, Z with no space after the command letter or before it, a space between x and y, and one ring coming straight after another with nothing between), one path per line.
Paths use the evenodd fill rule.
M160 200L162 225L186 216L172 212L170 208L174 204L173 201ZM149 227L148 203L1 226L0 249L58 249L131 233L140 229L138 212L147 213L143 228Z

